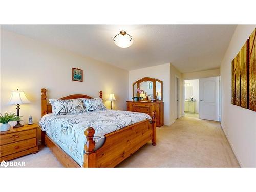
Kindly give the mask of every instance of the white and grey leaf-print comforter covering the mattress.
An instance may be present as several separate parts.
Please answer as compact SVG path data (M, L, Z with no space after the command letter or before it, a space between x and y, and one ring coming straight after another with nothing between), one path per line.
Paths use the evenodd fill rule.
M146 119L151 120L151 117L145 113L120 110L103 110L77 115L50 113L40 119L39 126L63 151L82 166L86 144L84 130L88 127L93 127L95 130L93 140L97 150L104 144L105 134Z

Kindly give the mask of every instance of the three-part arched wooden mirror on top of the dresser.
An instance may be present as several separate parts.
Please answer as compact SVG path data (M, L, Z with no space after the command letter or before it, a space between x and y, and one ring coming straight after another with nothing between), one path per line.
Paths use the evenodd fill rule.
M140 100L144 101L162 101L162 95L163 81L159 79L144 77L133 83L133 98L140 97Z

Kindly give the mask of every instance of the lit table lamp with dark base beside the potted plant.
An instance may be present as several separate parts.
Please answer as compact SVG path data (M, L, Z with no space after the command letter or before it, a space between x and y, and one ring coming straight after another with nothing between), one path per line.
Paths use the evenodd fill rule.
M17 89L17 91L12 91L12 95L11 98L8 102L8 104L15 104L17 106L17 116L19 117L19 109L20 109L20 105L19 104L24 104L24 103L30 103L30 101L27 99L27 97L25 96L24 91L19 91ZM24 125L19 123L20 121L17 121L17 124L13 127L13 128L18 128L18 127L22 127Z

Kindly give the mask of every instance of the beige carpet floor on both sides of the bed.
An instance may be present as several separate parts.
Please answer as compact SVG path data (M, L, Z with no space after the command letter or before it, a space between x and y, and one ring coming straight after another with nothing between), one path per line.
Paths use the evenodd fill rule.
M62 167L49 148L14 161L26 167ZM219 122L182 117L157 128L157 145L146 144L117 167L239 167Z

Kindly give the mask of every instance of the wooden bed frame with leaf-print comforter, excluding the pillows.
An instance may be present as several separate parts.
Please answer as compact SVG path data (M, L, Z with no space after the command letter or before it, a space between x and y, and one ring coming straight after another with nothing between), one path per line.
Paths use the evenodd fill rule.
M154 112L152 118L143 113L117 110L54 116L52 106L47 102L46 92L45 88L41 89L42 144L48 146L65 167L115 167L148 141L153 146L156 145ZM102 98L102 92L99 93L99 98ZM60 99L78 98L92 99L82 94ZM102 120L109 121L109 124L102 124ZM76 133L72 134L79 135L76 137L78 139L63 139L59 136L65 123L76 128ZM99 123L101 126L98 127ZM103 126L103 131L99 132L99 128L102 129ZM69 132L70 129L64 131Z

